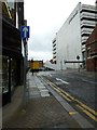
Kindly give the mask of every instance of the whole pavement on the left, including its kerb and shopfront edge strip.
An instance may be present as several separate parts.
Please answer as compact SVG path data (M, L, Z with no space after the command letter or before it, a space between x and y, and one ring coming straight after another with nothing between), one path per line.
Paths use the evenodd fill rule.
M27 74L27 88L17 88L12 102L3 106L2 128L88 128L89 123L63 101L37 74ZM73 109L72 109L73 110ZM79 121L78 121L79 120ZM85 125L83 125L83 122Z

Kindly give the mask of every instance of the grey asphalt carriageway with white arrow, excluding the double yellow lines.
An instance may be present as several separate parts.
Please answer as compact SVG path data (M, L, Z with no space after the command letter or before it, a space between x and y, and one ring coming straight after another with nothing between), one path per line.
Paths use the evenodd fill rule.
M58 70L42 73L47 80L96 112L96 77L93 73ZM71 103L71 105L73 105ZM88 114L87 114L88 115ZM91 114L89 114L91 115Z

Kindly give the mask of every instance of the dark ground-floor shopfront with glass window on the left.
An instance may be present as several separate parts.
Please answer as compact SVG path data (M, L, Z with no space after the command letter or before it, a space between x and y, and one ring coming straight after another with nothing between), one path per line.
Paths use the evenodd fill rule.
M11 102L16 87L23 83L20 31L2 20L2 105Z

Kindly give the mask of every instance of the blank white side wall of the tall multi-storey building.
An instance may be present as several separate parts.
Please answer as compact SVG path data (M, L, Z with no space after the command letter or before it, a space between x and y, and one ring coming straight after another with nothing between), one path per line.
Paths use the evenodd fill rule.
M81 4L78 4L78 6L74 9L74 11L71 13L71 15L68 17L68 20L57 32L56 40L58 69L65 69L67 67L78 68L78 63L65 64L64 61L77 61L77 55L80 55L80 60L82 60L80 8Z

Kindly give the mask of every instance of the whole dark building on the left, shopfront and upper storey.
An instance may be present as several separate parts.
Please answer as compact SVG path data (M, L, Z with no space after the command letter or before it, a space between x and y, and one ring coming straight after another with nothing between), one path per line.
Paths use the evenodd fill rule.
M11 102L16 87L22 86L24 80L20 38L20 26L24 24L24 2L15 3L14 1L12 4L2 2L0 22L2 22L2 46L0 46L2 50L0 55L2 57L2 70L0 70L2 72L2 105L5 105Z

